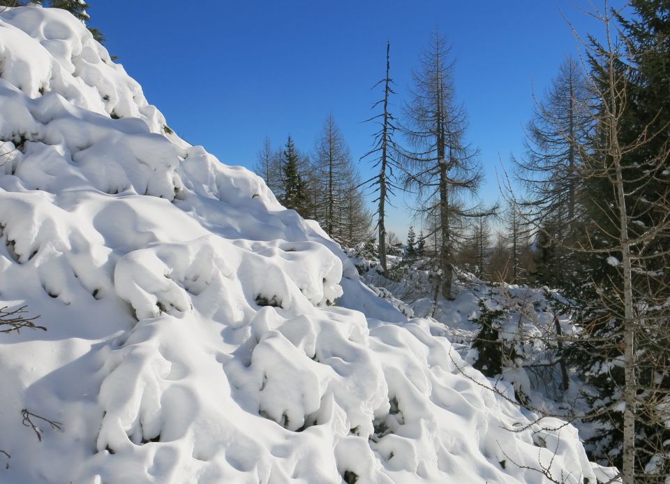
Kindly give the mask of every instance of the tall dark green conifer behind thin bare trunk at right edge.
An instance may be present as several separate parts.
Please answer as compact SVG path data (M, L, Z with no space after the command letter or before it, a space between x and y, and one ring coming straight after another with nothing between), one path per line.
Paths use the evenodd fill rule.
M568 355L572 365L581 369L581 377L590 392L586 400L597 414L593 417L599 429L588 439L590 457L602 464L623 464L623 391L626 376L623 365L626 346L625 325L634 324L635 395L635 466L642 476L667 474L670 461L670 431L667 427L667 388L670 388L670 265L667 200L670 194L670 1L633 0L630 18L618 16L621 31L621 55L614 61L611 82L607 50L590 38L594 47L590 68L595 86L602 91L612 87L614 100L622 109L616 126L618 146L625 147L620 162L627 240L632 243L632 298L634 316L625 320L621 295L625 293L623 269L616 262L606 263L608 256L619 258L623 245L620 229L620 200L613 182L604 176L586 178L588 200L584 205L588 227L581 236L593 251L574 256L579 284L568 295L579 301L578 323L583 328L579 342L572 344ZM606 104L598 109L606 114ZM598 112L600 115L600 112ZM607 151L611 145L611 126L602 117L589 146L593 165L602 170L608 166ZM600 156L600 158L598 158ZM628 407L630 408L630 406ZM651 469L651 470L650 470ZM645 476L650 478L650 476ZM656 478L656 476L655 476ZM660 479L660 476L657 477ZM653 482L661 482L653 481Z

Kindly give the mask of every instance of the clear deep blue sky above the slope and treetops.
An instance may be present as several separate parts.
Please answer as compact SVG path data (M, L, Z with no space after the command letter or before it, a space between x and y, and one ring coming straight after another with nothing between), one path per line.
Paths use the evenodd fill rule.
M357 161L371 145L371 105L391 42L394 112L419 52L438 27L453 45L456 95L468 140L486 171L484 200L498 197L496 167L522 152L523 126L566 54L597 22L584 0L89 0L91 25L182 138L223 163L253 167L265 135L288 133L311 150L333 112ZM363 176L368 166L359 167ZM410 200L407 200L410 201ZM410 213L396 200L389 225L401 237Z

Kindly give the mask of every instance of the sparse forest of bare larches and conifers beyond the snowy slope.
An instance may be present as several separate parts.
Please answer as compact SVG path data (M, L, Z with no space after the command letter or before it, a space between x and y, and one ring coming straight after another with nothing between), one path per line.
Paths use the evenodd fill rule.
M327 233L345 247L362 243L355 253L379 261L371 281L405 302L431 299L432 316L440 299L456 298L452 286L463 271L501 288L558 290L560 298L551 302L556 323L542 337L551 338L545 344L564 390L570 379L583 385L564 415L598 429L587 439L590 457L622 469L625 483L661 482L655 479L670 474L670 97L664 89L670 3L636 0L630 10L604 6L591 15L604 36L575 32L583 54L566 57L551 85L536 93L526 149L501 175L504 210L484 208L477 198L484 173L454 89L456 59L438 32L420 54L400 115L389 105L399 87L389 74L387 46L386 75L378 83L383 96L371 118L378 131L362 159L378 170L367 182L375 217L364 209L364 192L352 190L357 181L345 176L355 168L332 115L305 176L316 174L312 213ZM277 186L262 168L270 158L266 145L258 173ZM385 223L395 191L415 200L402 244ZM344 193L361 208L341 212ZM357 240L342 235L354 214ZM408 279L424 271L430 288L408 288ZM505 378L511 367L537 365L504 343L529 335L520 329L505 336L499 321L509 317L507 310L482 301L475 366ZM579 330L566 334L558 324L563 316Z

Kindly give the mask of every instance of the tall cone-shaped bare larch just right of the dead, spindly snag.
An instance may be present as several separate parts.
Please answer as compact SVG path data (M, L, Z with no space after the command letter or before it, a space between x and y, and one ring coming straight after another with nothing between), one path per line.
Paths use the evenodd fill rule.
M404 108L403 133L414 150L403 151L402 158L408 170L405 185L417 194L417 212L424 219L438 216L440 292L452 299L455 237L463 217L473 215L463 196L476 193L482 171L477 150L465 142L466 113L456 102L449 50L435 32L422 52L411 101Z

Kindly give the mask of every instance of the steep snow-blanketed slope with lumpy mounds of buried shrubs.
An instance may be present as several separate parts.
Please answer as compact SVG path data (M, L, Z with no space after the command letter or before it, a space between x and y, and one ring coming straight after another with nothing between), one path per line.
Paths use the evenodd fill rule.
M594 478L74 17L4 10L0 71L0 307L47 328L0 334L0 482Z

